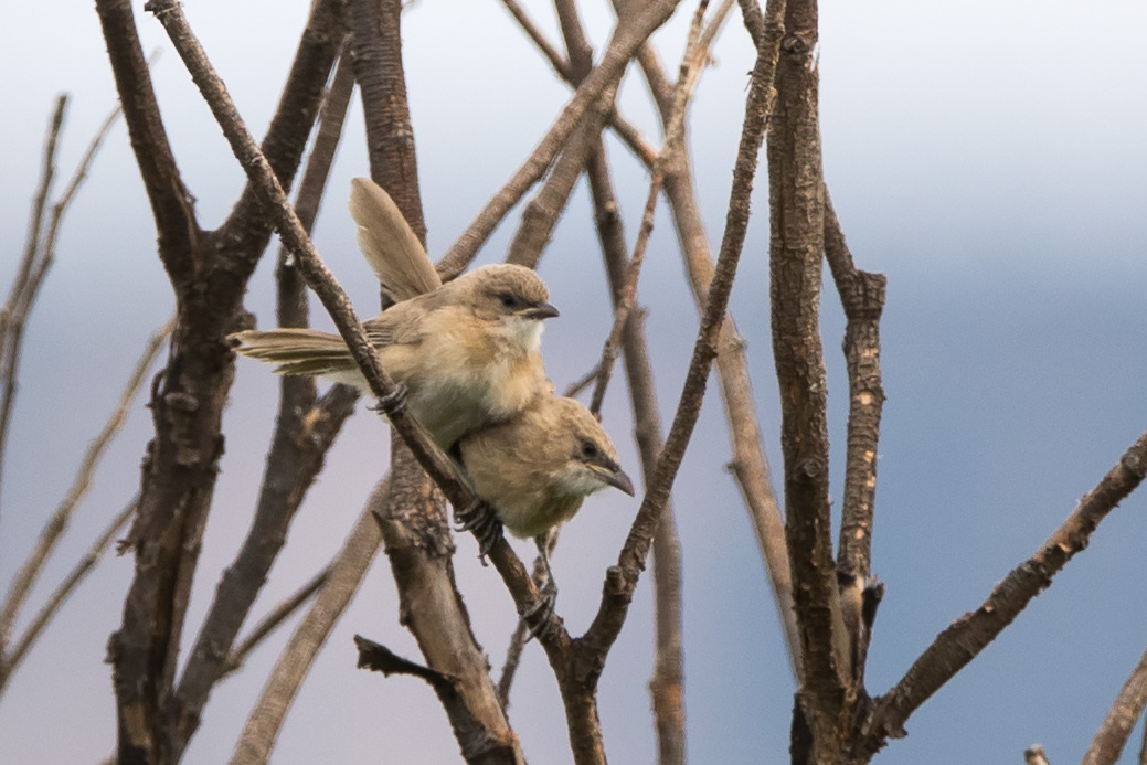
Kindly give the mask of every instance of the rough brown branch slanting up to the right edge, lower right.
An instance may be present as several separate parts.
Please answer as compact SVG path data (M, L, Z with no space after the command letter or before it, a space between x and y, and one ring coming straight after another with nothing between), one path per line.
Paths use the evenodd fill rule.
M1123 453L1119 462L1079 500L1071 515L1030 559L996 585L978 609L968 611L941 632L904 678L876 700L872 716L863 726L865 739L858 751L871 756L887 739L904 735L908 716L994 640L1032 598L1051 585L1052 577L1087 546L1099 523L1145 477L1147 432Z

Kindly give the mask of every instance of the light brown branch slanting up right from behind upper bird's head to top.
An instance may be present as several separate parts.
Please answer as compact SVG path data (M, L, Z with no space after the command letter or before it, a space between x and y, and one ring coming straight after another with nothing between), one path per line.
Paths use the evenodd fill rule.
M533 154L514 173L507 184L491 198L458 242L450 248L438 263L438 272L444 276L460 273L474 259L478 248L490 236L494 227L517 204L518 200L549 167L554 157L565 145L565 139L582 120L585 110L596 101L606 88L621 79L630 58L638 47L673 14L680 0L653 0L632 18L618 24L601 63L578 87L549 132L533 150Z

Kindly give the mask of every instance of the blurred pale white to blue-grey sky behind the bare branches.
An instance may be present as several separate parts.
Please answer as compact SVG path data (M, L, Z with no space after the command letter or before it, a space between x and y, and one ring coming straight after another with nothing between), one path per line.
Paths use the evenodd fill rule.
M556 39L545 2L525 6ZM611 14L585 3L600 53ZM189 1L193 29L236 104L260 133L306 13L303 2ZM676 71L690 6L656 38ZM139 11L139 3L136 3ZM67 175L115 102L91 3L60 13L21 3L0 26L9 72L0 157L0 283L22 250L55 94L72 94L61 147ZM819 71L825 173L858 265L888 275L873 569L885 583L867 669L883 693L937 632L973 610L1037 549L1080 495L1147 428L1147 8L1076 3L821 3ZM201 225L226 216L242 174L159 29L138 16L145 48L161 48L155 81ZM257 46L252 47L252 40ZM404 17L404 58L431 255L443 252L533 149L568 99L500 3L421 0ZM752 52L734 13L713 50L689 118L695 180L718 242ZM641 80L626 77L623 111L656 142ZM647 178L610 139L632 245ZM763 157L762 157L763 159ZM348 119L323 211L319 251L356 302L374 311L376 286L342 203L366 174L361 112ZM732 296L748 343L765 446L780 474L779 415L768 333L767 184ZM481 261L501 258L520 211ZM32 313L0 492L0 583L7 586L44 520L67 492L88 439L103 424L145 338L169 315L171 290L155 256L139 173L119 124L61 234L57 260ZM271 258L247 305L273 323ZM584 182L540 268L562 317L546 330L551 376L564 387L595 361L608 302ZM684 380L696 314L664 208L658 210L640 299L663 417ZM682 306L688 306L684 309ZM833 498L843 479L844 321L828 284L822 299L833 443ZM329 320L315 310L317 326ZM710 387L673 500L681 536L689 759L787 759L793 681L764 568ZM188 623L210 602L247 526L273 427L276 387L241 360L223 474L204 539ZM610 390L604 426L623 465L639 474L625 389ZM33 602L55 585L134 492L150 432L136 401L92 492L50 561ZM326 563L385 465L385 427L365 411L348 423L256 604L262 614ZM775 484L775 481L774 481ZM983 654L929 700L877 763L1021 762L1033 742L1053 763L1078 760L1147 646L1141 586L1147 494L1126 499ZM559 611L575 633L596 608L638 500L588 500L554 559ZM458 577L475 631L500 668L513 606L491 569L458 538ZM528 544L518 546L528 554ZM103 664L132 573L103 561L53 622L0 697L0 762L94 763L114 747L115 709ZM24 615L23 623L30 614ZM653 657L650 584L642 580L601 679L607 752L653 763L646 684ZM212 696L187 763L226 762L289 630L276 633ZM304 684L273 756L311 762L458 762L434 694L409 678L354 670L351 635L405 656L416 646L397 623L397 596L376 561ZM194 639L194 627L185 646ZM556 684L529 646L510 721L535 763L568 763ZM67 720L65 726L60 721ZM1121 762L1136 760L1142 724ZM61 734L61 731L67 734Z

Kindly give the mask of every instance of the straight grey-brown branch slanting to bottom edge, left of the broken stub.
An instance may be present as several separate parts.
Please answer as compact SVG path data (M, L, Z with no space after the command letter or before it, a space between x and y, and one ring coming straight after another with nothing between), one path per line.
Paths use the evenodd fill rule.
M231 758L232 765L263 765L271 756L287 712L315 655L354 596L370 561L379 552L382 532L375 514L383 510L388 483L389 481L383 479L370 494L342 549L330 562L327 583L279 655L271 677L263 686L259 701L247 718L247 725Z

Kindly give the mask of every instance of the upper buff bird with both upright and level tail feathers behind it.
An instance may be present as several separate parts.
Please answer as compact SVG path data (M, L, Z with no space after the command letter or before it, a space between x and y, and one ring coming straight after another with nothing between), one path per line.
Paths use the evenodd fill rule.
M390 280L383 286L398 302L362 328L405 391L411 414L450 453L465 434L509 419L551 390L539 348L544 320L559 311L545 282L523 266L486 265L440 284L398 208L376 192L385 197L373 182L356 179L350 206L368 263L380 280ZM399 265L384 265L387 252L380 248L390 248ZM424 267L412 265L415 256ZM421 275L397 276L407 272ZM421 280L418 287L412 279ZM427 287L430 291L420 291ZM228 339L237 353L279 365L279 374L322 376L369 390L338 335L249 329Z

